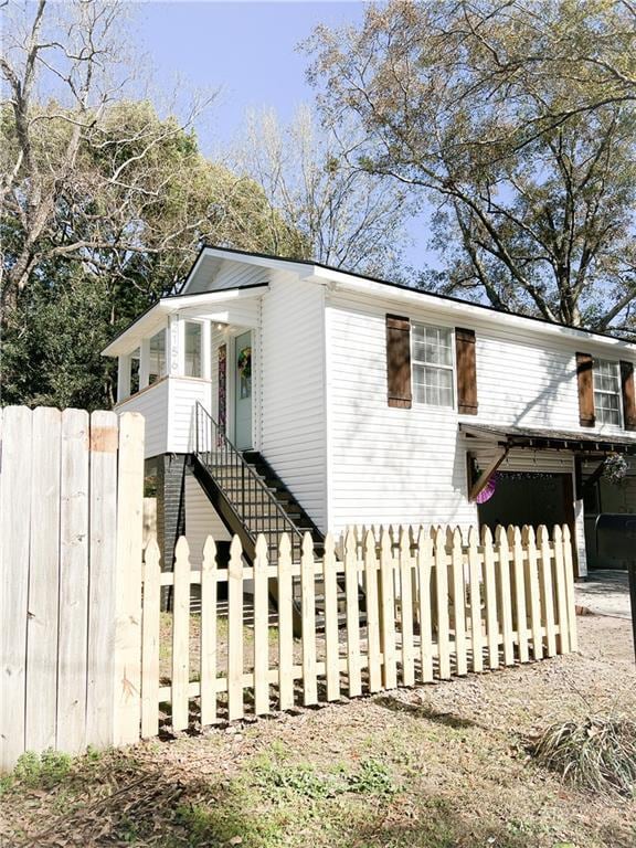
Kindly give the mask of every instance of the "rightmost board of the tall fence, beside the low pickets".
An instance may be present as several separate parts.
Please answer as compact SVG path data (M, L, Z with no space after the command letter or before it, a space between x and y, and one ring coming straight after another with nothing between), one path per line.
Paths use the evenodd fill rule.
M144 416L119 418L119 488L115 580L114 743L137 742L141 723L141 544Z

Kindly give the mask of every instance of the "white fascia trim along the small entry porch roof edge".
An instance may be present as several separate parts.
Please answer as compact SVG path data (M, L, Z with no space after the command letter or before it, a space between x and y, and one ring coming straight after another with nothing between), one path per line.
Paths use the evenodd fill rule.
M170 315L188 309L189 314L195 309L204 310L218 304L227 304L251 297L259 297L267 292L267 286L254 288L234 288L223 292L204 292L200 295L179 295L178 297L163 297L148 311L127 327L108 347L102 351L103 357L119 357L136 350L141 339L155 335L166 324Z

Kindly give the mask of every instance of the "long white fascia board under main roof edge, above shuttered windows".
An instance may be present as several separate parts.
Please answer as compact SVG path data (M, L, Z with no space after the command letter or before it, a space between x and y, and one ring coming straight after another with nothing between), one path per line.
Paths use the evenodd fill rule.
M354 277L346 272L328 271L326 268L315 267L311 277L307 277L322 285L331 284L332 290L349 290L357 294L365 294L374 297L381 297L384 300L395 300L402 304L412 304L413 306L434 309L437 312L456 316L462 320L473 320L481 325L506 328L518 327L519 330L536 332L538 336L559 337L577 342L584 346L598 344L603 348L614 348L616 351L625 351L636 356L636 344L622 339L614 339L610 336L598 336L594 332L585 332L574 327L563 327L549 321L524 318L520 315L510 315L509 312L498 312L496 310L485 309L475 304L463 303L459 300L448 300L444 297L436 297L427 292L410 290L407 288L398 288L384 283L377 283L372 279Z

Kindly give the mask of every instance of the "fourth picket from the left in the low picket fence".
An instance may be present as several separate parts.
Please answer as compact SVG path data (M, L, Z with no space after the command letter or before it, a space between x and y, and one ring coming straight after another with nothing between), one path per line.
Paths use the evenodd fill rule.
M227 565L227 718L230 721L242 719L244 716L242 555L241 542L235 536L230 545Z

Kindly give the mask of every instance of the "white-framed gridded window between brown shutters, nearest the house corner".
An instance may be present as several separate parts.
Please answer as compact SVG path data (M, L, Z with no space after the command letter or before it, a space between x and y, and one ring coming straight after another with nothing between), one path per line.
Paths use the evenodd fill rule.
M453 407L453 331L413 324L411 348L415 403Z

